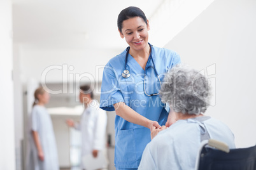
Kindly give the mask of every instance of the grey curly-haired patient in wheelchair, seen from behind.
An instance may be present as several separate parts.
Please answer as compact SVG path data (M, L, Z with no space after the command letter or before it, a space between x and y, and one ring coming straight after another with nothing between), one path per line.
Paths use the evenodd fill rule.
M231 130L203 114L209 105L210 87L196 70L173 67L164 78L161 99L170 106L176 122L169 128L152 130L152 137L160 133L146 145L139 169L194 169L201 141L209 138L235 148Z

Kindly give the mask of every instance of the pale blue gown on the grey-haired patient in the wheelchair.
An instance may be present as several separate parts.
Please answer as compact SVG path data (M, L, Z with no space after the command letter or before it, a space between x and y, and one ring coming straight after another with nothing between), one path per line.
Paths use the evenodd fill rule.
M201 145L201 131L204 129L207 129L210 138L235 148L234 135L224 123L210 118L202 124L194 119L179 120L160 131L146 146L138 169L194 170Z

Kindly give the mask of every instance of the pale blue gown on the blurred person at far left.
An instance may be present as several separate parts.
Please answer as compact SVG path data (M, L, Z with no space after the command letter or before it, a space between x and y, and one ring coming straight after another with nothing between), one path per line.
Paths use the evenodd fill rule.
M29 156L28 170L58 170L59 160L57 146L53 133L52 120L43 106L35 105L29 119ZM37 131L41 147L43 148L44 160L38 158L38 150L32 137L32 131Z

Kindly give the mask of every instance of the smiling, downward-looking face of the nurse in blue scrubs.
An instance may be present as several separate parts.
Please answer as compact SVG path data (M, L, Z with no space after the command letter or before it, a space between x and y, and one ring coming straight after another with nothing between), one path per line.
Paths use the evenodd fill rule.
M125 38L125 41L132 49L137 51L144 49L148 44L148 30L150 29L147 23L139 17L135 16L124 20L122 23L122 32L120 36Z

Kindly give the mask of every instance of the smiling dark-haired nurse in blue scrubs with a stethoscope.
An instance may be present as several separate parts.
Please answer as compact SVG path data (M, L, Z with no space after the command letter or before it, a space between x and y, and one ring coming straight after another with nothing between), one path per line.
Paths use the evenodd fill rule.
M148 43L150 25L137 7L122 10L117 25L129 47L104 67L100 107L117 114L116 169L138 169L143 150L151 140L150 129L171 124L169 109L161 102L159 91L164 74L180 63L180 56Z

